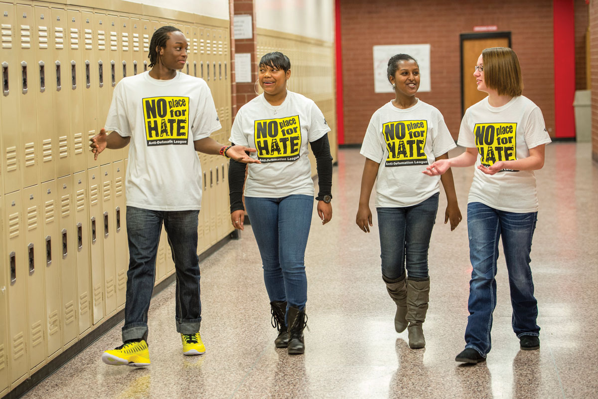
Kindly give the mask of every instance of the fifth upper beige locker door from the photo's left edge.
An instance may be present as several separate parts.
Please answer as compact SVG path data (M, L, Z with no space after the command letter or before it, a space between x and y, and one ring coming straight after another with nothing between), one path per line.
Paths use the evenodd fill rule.
M66 19L68 27L68 57L69 57L69 107L70 107L70 134L72 151L72 171L81 172L87 169L87 148L89 148L87 134L84 134L84 102L85 90L83 62L84 39L81 35L81 17L78 10L67 10ZM86 148L87 147L87 148Z

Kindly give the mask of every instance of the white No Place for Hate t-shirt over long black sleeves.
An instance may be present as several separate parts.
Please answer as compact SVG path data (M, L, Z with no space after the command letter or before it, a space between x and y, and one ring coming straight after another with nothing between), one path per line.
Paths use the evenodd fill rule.
M253 147L245 182L246 197L313 196L312 166L307 143L330 131L322 111L313 100L286 92L280 105L273 106L261 94L243 105L234 118L230 141Z

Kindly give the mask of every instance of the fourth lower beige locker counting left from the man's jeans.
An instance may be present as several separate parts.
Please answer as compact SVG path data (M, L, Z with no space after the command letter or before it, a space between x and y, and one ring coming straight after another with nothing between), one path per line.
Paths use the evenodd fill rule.
M77 312L79 317L79 336L87 333L91 327L91 276L89 264L89 223L87 208L87 172L73 175L75 196L75 230L72 239L75 241L75 267L77 267Z

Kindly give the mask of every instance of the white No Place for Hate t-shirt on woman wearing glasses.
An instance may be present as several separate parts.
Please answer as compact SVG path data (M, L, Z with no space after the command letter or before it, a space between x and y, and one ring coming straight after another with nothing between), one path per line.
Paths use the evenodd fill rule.
M527 213L538 211L536 175L533 170L503 169L495 175L477 169L499 160L529 157L529 149L550 143L542 111L524 96L493 107L484 98L465 111L457 144L477 148L474 181L469 202L481 202L500 211Z

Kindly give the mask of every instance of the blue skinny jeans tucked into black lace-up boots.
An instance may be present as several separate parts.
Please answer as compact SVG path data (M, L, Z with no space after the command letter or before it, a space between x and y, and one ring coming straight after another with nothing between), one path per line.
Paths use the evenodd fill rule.
M304 255L312 223L313 197L245 197L247 214L260 248L270 301L302 310L307 302Z

